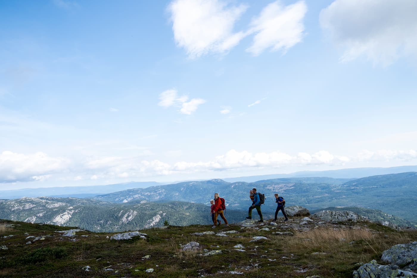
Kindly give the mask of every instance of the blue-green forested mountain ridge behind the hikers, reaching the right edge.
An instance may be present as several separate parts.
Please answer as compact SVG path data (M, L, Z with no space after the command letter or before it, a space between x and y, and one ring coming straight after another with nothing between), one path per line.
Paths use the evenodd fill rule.
M94 198L106 202L178 200L208 204L217 192L226 199L228 207L247 210L251 205L249 190L256 187L258 192L266 196L262 210L267 213L275 211L274 194L278 193L284 196L287 205L301 205L313 210L329 206L365 207L417 222L417 172L343 181L329 178L281 178L229 183L215 179L125 190Z

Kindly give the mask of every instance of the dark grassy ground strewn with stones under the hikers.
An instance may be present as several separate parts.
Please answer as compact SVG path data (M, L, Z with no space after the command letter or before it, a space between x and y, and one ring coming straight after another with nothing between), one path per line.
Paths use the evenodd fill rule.
M398 232L373 223L305 224L296 217L289 222L277 222L276 227L269 222L259 226L269 227L270 231L241 229L239 225L216 229L208 225L170 226L142 230L148 234L146 240L115 241L106 238L114 233L82 231L68 238L56 231L70 227L0 220L0 247L8 248L0 249L0 277L239 276L231 271L246 277L351 277L359 267L357 263L372 259L379 262L382 251L392 245L417 240L416 230ZM191 235L208 230L238 232L227 237ZM272 234L278 231L291 231L293 235ZM25 238L30 235L45 239L26 244ZM268 240L250 242L253 236ZM201 249L181 251L179 244L191 241L200 243ZM237 251L237 244L244 245L246 252ZM222 253L199 256L203 249ZM146 255L151 257L143 259ZM82 269L87 265L91 267L89 272ZM146 273L149 268L154 272Z

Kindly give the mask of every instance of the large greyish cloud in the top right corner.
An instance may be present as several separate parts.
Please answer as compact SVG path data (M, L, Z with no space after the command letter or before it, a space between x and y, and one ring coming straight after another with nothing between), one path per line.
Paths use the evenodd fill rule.
M320 24L344 49L342 62L365 56L387 66L417 55L417 1L336 0L320 13Z

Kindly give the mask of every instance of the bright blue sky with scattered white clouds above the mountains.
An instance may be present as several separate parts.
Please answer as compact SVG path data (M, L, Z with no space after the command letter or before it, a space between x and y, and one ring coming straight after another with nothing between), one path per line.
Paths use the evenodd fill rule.
M416 165L416 14L0 1L0 190Z

